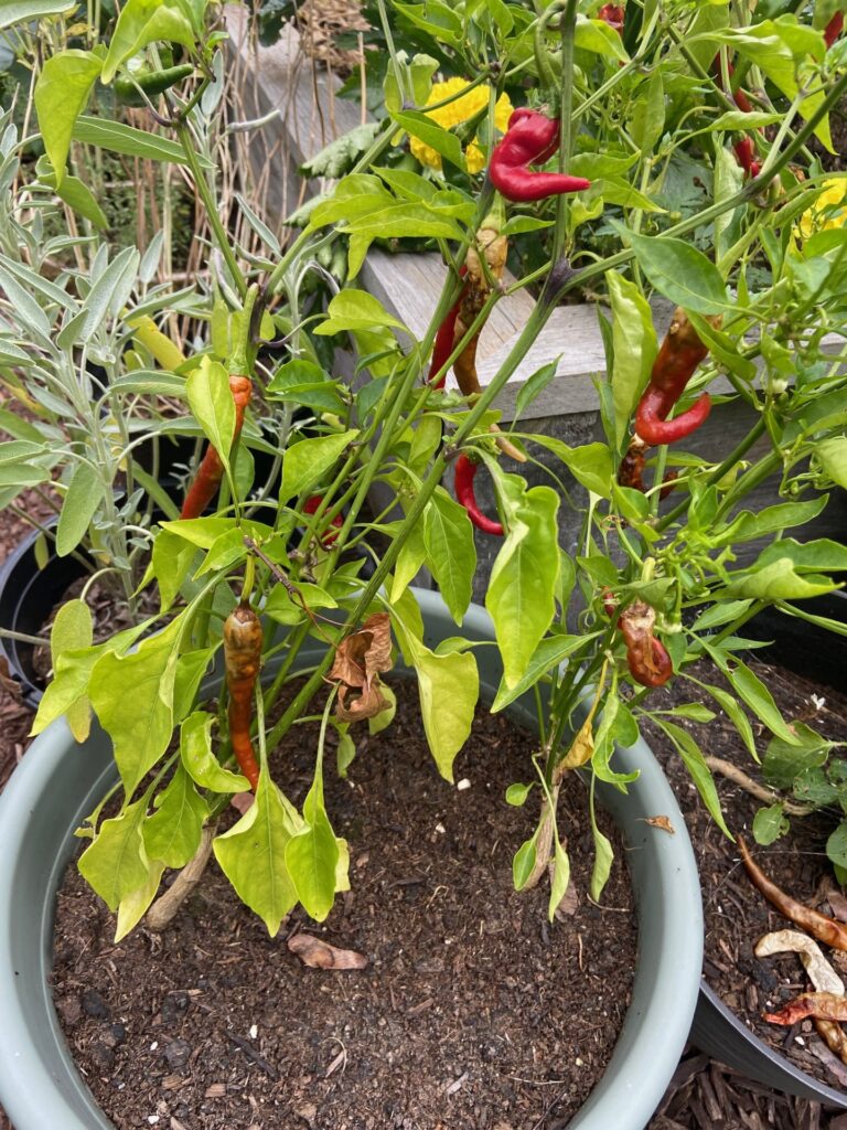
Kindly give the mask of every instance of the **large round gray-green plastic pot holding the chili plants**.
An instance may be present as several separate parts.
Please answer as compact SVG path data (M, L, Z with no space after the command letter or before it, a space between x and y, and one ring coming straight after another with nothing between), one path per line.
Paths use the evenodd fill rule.
M424 591L417 597L428 645L455 635L440 598ZM463 633L494 638L491 620L477 607L469 609ZM304 662L316 655L304 653ZM477 659L490 699L500 679L496 649L479 649ZM533 724L531 711L527 699L510 714ZM571 1121L574 1130L641 1130L686 1044L700 982L700 887L684 820L644 742L615 757L619 770L641 772L627 796L601 790L628 847L639 962L614 1054ZM47 975L56 887L79 844L72 831L114 775L106 736L96 730L78 747L60 721L36 739L0 798L0 1102L16 1130L112 1130L64 1043ZM671 819L674 835L645 823L657 815Z

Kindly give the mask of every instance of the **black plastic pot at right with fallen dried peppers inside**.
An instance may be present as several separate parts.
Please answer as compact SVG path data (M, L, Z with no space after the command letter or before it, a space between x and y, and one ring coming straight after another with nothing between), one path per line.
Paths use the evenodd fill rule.
M847 624L847 596L844 592L803 601L803 608L817 616ZM772 641L772 646L758 653L766 662L778 663L823 687L847 689L847 637L770 608L745 625L744 634L751 638ZM691 1041L713 1059L766 1087L847 1110L847 1094L820 1083L769 1048L705 981L700 984Z

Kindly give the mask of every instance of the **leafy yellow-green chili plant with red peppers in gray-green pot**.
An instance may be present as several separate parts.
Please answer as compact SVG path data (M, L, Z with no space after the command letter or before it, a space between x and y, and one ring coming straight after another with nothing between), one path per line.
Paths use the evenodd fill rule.
M474 525L499 539L486 606L504 673L490 709L524 694L538 704L538 754L507 797L538 810L536 831L515 844L514 880L523 888L549 871L551 915L568 884L569 829L556 811L566 773L582 770L590 784L600 897L611 849L594 822L593 782L626 790L631 777L615 771L614 746L631 744L645 719L669 736L717 820L687 720L725 712L751 756L750 714L798 744L745 661L741 633L768 603L807 616L804 598L836 588L847 570L844 545L795 537L847 486L847 231L841 206L824 201L833 179L809 148L815 137L829 144L847 50L823 34L840 3L818 6L813 23L753 7L630 0L621 28L617 10L576 0L540 14L519 3L381 5L383 119L367 128L347 175L300 214L287 247L267 237L264 254L250 258L219 218L215 154L201 160L198 149L198 107L225 50L202 0L128 0L103 50L43 62L35 103L60 184L95 86L132 79L139 60L155 70L163 43L178 44L191 76L139 95L151 130L194 177L230 296L226 358L206 344L180 366L208 445L181 515L159 523L152 545L146 581L157 585L159 611L102 644L61 651L34 725L41 732L68 711L91 710L114 742L115 807L104 800L80 829L90 843L79 866L117 913L119 937L151 904L163 924L164 871L184 869L168 890L172 907L210 851L271 933L297 903L326 916L349 883L347 845L324 805L328 736L344 773L360 728L391 722L384 676L398 652L417 672L435 770L452 780L479 693L475 645L462 637ZM446 104L484 86L459 132L431 116L439 61L396 50L400 17L404 34L411 25L437 41L440 66L465 79ZM726 94L727 78L750 87L749 113ZM498 127L507 92L516 108ZM740 130L753 137L758 171L735 160ZM434 150L440 175L399 160L403 138ZM680 146L695 144L708 176L698 205L674 215L662 202L666 177ZM602 255L579 242L582 223L601 212L614 243ZM259 217L255 226L265 231ZM545 232L545 258L513 280L507 242L522 229ZM431 241L448 267L420 338L358 281L374 241L407 237ZM330 285L324 306L306 297L304 279L339 244L347 282ZM482 388L475 349L486 320L527 286L540 295L534 312ZM504 431L499 393L557 305L586 289L603 296L608 346L599 437L571 447L522 429L521 412L555 366L523 383L518 418ZM678 307L664 334L653 295ZM271 331L282 353L264 349ZM328 345L350 351L353 379L339 375ZM444 385L451 367L457 391ZM736 405L749 428L732 450L718 436L708 455L695 454L686 441L713 400ZM296 416L277 440L278 490L254 497L235 468L243 429L269 403ZM539 451L555 457L552 470ZM530 485L530 469L547 481ZM480 473L494 481L496 515L475 504ZM779 501L750 508L771 479ZM580 518L576 554L560 544L564 507ZM751 545L752 563L741 564ZM425 567L456 621L455 638L435 651L409 589ZM323 659L282 698L314 638ZM691 673L704 658L719 685ZM216 660L225 686L210 699L202 681ZM691 690L673 710L661 696L671 678ZM314 781L297 809L273 753L314 716ZM232 794L246 792L246 814L219 831Z

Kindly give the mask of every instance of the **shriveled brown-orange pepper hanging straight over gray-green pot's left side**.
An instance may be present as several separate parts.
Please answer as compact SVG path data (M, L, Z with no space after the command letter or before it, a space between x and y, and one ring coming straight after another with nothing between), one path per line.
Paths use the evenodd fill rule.
M262 621L242 602L224 621L224 667L229 692L229 740L235 759L255 792L259 763L250 737L253 690L262 659Z

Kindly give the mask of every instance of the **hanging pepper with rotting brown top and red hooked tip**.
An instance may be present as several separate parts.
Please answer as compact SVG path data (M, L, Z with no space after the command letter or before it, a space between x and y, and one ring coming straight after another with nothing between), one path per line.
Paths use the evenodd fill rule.
M715 327L721 324L719 316L709 321ZM706 420L711 410L708 392L675 419L669 420L667 416L708 351L684 310L678 306L636 411L636 435L645 443L674 443L691 435Z

